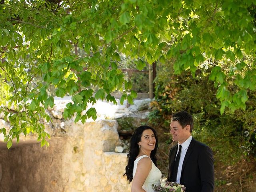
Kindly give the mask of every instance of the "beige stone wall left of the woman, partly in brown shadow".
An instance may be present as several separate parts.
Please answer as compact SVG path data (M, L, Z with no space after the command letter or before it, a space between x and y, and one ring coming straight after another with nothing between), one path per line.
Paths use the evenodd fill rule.
M2 125L1 125L2 126ZM128 192L122 176L125 153L120 145L116 120L85 124L64 122L64 134L46 126L52 139L48 148L31 137L21 138L10 150L0 147L0 192Z

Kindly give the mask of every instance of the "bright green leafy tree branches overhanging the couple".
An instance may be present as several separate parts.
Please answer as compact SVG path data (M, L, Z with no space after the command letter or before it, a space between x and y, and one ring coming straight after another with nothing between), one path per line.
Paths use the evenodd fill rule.
M115 103L115 90L123 91L121 103L132 102L136 93L118 68L123 56L136 60L138 69L174 58L177 74L194 74L211 60L221 113L245 108L256 83L255 8L254 0L1 0L0 112L11 126L0 132L7 147L29 131L48 145L39 120L51 120L45 112L54 106L51 85L56 96L72 96L64 117L76 114L76 122L96 118L94 108L82 113L88 102ZM223 60L230 73L222 71Z

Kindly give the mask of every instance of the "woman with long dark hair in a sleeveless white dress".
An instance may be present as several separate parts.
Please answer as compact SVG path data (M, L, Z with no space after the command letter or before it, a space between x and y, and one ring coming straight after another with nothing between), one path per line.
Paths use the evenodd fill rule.
M132 192L154 192L152 184L160 185L162 173L156 167L157 148L158 139L153 128L140 126L134 131L124 173L129 183L132 182Z

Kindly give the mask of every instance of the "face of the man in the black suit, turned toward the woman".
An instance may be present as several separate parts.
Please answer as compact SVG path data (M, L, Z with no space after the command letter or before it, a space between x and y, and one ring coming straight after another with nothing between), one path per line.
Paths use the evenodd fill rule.
M170 134L172 134L172 140L178 141L179 144L182 144L190 137L190 126L187 125L184 128L180 125L178 121L171 121L170 124Z

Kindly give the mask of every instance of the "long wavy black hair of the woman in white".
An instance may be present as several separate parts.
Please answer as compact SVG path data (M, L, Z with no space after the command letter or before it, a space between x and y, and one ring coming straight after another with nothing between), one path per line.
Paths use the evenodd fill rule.
M132 182L134 161L136 160L136 157L139 154L138 142L141 141L141 136L142 136L143 131L147 130L147 129L151 129L153 131L154 135L155 135L155 138L156 138L156 145L155 145L154 150L152 150L151 153L150 153L150 158L154 162L154 164L157 166L157 164L156 164L156 161L157 161L157 159L156 159L156 150L158 148L158 138L157 138L156 131L150 126L146 126L146 125L140 126L134 131L134 133L131 137L130 150L129 150L129 154L127 155L128 164L125 167L126 172L124 173L124 176L126 175L127 180L129 181L129 183Z

